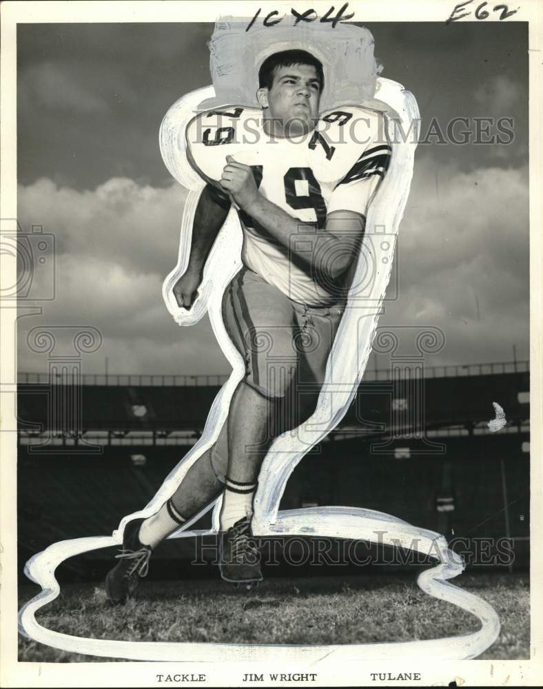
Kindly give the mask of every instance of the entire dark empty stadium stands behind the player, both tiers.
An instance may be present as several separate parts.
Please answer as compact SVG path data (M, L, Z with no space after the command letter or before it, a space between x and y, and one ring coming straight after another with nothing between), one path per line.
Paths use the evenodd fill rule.
M83 384L81 426L70 434L55 426L50 400L63 397L53 387L43 380L19 384L21 571L50 543L109 534L124 515L143 507L198 437L218 392L213 384ZM417 396L424 406L413 414ZM494 401L507 418L498 433L488 428ZM168 439L172 444L161 445ZM99 452L81 453L83 440L92 440ZM472 555L473 548L486 548L475 566L511 569L529 564L529 498L524 370L429 376L410 387L365 381L338 429L294 471L282 508L376 509L444 533ZM514 562L499 557L504 539L511 541ZM170 542L157 555L163 566L154 567L155 575L192 575L194 544ZM95 579L110 557L97 551L69 561L60 577Z

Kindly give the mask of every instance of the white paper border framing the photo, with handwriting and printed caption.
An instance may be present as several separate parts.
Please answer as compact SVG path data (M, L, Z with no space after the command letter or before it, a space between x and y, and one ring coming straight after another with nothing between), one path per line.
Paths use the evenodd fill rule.
M233 16L251 17L260 7L289 12L291 6L305 10L315 8L323 13L334 4L329 1L284 2L249 0L229 3ZM339 8L342 3L335 3ZM391 0L386 6L380 0L349 2L355 12L353 21L445 21L457 6L455 0L417 0L405 3ZM466 3L464 3L466 4ZM473 9L478 3L472 3ZM515 4L515 8L517 5ZM468 5L467 10L470 9ZM79 22L183 22L207 21L225 12L223 3L210 2L5 2L1 6L1 194L0 218L17 218L17 61L16 35L18 23L79 23ZM473 16L459 21L478 21ZM485 21L500 21L491 14ZM403 686L530 686L543 676L543 624L537 612L543 610L543 524L542 524L542 339L541 339L541 220L542 185L540 133L543 127L541 94L543 93L543 30L542 6L537 0L520 0L514 21L529 23L529 94L530 94L530 273L531 273L531 659L525 661L471 660L420 664L402 661L345 661L340 668L318 661L311 670L300 664L280 666L270 658L269 664L248 663L22 663L17 660L17 438L15 433L0 433L1 482L1 679L6 687L18 686L163 686L161 675L179 672L194 676L205 673L205 682L196 686L238 686L245 672L318 672L314 686L379 686L386 682L369 681L370 672L419 672L420 681L404 681ZM393 76L393 75L391 75ZM153 132L150 132L153 136ZM157 144L158 145L158 144ZM2 257L1 269L6 282L16 282L14 261ZM7 277L6 277L7 276ZM0 309L1 358L0 382L1 420L14 428L14 386L17 382L15 358L15 309ZM300 670L302 666L302 670ZM189 683L190 684L190 683ZM244 682L247 686L259 683ZM291 686L293 683L289 683ZM260 684L262 686L262 684ZM280 686L277 683L276 686Z

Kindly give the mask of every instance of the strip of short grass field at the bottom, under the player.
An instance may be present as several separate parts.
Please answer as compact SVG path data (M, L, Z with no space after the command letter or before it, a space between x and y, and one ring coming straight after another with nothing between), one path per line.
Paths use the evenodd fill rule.
M103 585L72 584L37 620L66 634L125 641L208 641L249 644L364 644L460 635L475 617L430 598L415 576L364 575L267 579L254 590L217 580L143 582L138 599L112 607ZM498 612L500 637L483 659L529 658L527 574L471 574L454 582ZM20 590L20 604L38 591ZM21 661L103 661L20 637Z

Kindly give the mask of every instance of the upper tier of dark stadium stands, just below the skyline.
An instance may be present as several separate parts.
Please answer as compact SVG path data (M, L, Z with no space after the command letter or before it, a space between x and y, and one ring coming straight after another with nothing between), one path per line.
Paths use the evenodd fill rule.
M412 380L410 397L415 395L417 387L420 387L424 400L422 410L417 410L417 413L422 413L426 429L488 421L493 418L493 401L499 401L506 409L510 421L521 422L529 418L529 404L519 401L519 393L529 391L527 372ZM68 397L64 386L57 388L58 398ZM402 381L362 382L356 401L342 423L390 424L395 402L402 402L405 398L404 388ZM209 407L219 389L191 385L85 386L81 393L81 429L85 432L203 429ZM51 395L48 384L19 384L21 430L24 424L40 424L43 430L51 427L48 409ZM411 399L405 403L406 412L414 406ZM405 414L405 422L410 422L408 413Z

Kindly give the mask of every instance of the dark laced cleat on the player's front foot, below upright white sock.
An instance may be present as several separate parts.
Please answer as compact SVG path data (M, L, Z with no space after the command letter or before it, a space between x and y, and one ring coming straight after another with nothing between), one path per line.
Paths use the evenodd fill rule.
M262 581L260 553L248 517L231 526L222 535L220 544L218 568L225 582L231 582L236 587L246 584L246 588L250 588Z

